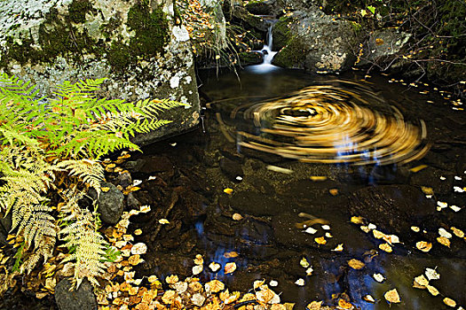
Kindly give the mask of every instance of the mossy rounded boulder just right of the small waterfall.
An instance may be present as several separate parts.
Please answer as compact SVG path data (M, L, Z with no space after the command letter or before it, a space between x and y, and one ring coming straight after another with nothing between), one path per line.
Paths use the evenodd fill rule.
M336 20L314 6L291 1L288 14L273 28L273 64L310 72L340 72L354 60L357 36L351 23Z

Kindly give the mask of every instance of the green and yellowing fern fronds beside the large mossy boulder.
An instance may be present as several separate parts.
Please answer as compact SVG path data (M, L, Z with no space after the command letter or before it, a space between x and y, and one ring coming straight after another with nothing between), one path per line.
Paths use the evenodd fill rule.
M130 138L170 123L157 117L182 105L101 98L104 81L65 81L51 98L39 98L31 83L0 74L0 211L12 212L12 229L24 237L21 272L47 261L59 236L69 250L63 262L75 263L75 282L87 277L98 284L103 262L115 252L108 251L99 234L97 210L78 202L89 188L100 193L104 170L99 158L139 150ZM51 201L59 204L52 207Z

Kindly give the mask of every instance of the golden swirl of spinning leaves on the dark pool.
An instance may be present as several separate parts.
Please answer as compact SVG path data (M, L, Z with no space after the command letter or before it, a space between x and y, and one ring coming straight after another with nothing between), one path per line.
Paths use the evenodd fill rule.
M429 151L423 120L406 121L364 86L337 85L237 106L231 118L241 115L249 124L237 127L239 146L303 162L352 165L407 163Z

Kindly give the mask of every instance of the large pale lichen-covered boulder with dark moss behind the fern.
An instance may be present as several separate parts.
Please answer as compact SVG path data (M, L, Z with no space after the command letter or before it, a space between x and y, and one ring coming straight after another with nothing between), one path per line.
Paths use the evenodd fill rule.
M0 72L39 87L108 77L106 97L170 98L186 103L160 115L174 120L137 136L150 143L193 128L199 97L189 34L171 0L4 0Z

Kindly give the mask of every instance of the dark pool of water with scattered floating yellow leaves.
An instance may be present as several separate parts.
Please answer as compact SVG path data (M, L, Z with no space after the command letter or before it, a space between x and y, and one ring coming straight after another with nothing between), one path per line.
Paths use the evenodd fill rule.
M133 178L143 181L134 198L154 209L150 217L140 216L131 226L143 229L139 238L150 248L139 272L190 276L194 256L200 253L206 266L201 279L220 279L230 291L248 291L255 280L274 280L278 286L272 289L280 292L282 302L296 303L298 309L312 300L335 306L345 295L360 309L389 309L383 294L392 289L399 292L402 309L447 308L445 297L466 305L466 241L451 230L466 229L462 105L423 84L410 87L386 76L363 80L359 73L314 76L280 68L264 72L252 66L236 74L204 71L199 76L207 108L198 130L155 143L126 164ZM268 149L282 148L283 139L261 131L270 125L265 124L267 119L254 124L257 110L250 110L252 117L246 110L316 85L356 92L368 110L388 115L397 124L411 124L417 133L413 141L420 145L414 153L423 152L403 160L394 152L383 165L377 160L364 163L358 154L358 165L351 165L344 160L305 162L311 152L307 146L300 149L304 157L290 158L244 145L241 132L272 136L279 144L268 141ZM314 113L312 109L298 109L293 117L309 117L305 113ZM364 112L351 116L358 121L366 117ZM332 130L338 132L338 127ZM392 143L403 139L411 138L398 136ZM252 139L252 144L263 142ZM324 148L312 145L313 151ZM356 151L345 154L349 153ZM447 206L440 207L444 203ZM233 220L234 213L241 214L241 220ZM351 216L362 217L362 224L351 222ZM157 229L160 218L170 224ZM383 239L360 228L369 224L398 236L400 243L384 252L379 248ZM453 235L449 247L438 243L441 228ZM430 252L416 248L420 241L433 244ZM339 244L343 251L334 251ZM304 258L312 275L306 275L300 264ZM349 267L351 259L365 266ZM222 266L234 261L238 268L229 275L214 273L207 267L211 261ZM415 277L426 267L440 274L430 281L440 292L437 297L413 288ZM375 281L374 274L383 275L383 282ZM304 280L303 286L296 284L298 279ZM367 295L375 303L367 302Z

